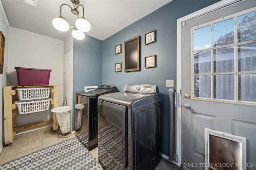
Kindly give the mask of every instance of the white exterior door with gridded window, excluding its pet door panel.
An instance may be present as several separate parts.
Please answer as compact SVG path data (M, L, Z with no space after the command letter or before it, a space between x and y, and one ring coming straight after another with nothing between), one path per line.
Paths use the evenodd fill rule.
M256 163L255 6L256 1L237 2L184 24L184 167L205 169L204 128L245 137L247 163Z

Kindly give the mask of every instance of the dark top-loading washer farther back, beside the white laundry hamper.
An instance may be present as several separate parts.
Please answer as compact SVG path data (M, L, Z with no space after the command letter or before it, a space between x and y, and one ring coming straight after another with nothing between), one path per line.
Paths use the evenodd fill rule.
M118 92L116 86L98 86L90 90L76 93L76 104L83 104L80 117L76 114L76 136L88 150L97 147L98 144L98 96L107 93ZM76 110L77 112L77 110Z

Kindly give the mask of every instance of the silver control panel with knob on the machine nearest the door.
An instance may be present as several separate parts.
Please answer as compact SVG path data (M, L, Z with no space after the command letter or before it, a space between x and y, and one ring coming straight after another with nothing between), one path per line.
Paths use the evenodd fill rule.
M154 94L158 92L158 88L156 85L152 84L128 84L124 88L124 91L130 93Z

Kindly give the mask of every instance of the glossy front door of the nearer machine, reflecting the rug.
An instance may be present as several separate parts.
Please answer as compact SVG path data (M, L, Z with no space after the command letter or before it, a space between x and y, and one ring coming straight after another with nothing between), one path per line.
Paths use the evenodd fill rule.
M126 117L126 106L98 100L98 158L105 167L128 166Z

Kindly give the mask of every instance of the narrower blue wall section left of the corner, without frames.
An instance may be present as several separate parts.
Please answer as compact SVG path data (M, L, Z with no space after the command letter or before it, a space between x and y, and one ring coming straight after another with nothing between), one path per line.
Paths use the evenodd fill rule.
M85 39L74 39L73 53L73 129L75 129L76 92L84 90L84 86L100 86L102 84L102 41L89 35Z

